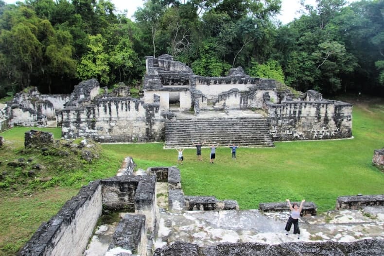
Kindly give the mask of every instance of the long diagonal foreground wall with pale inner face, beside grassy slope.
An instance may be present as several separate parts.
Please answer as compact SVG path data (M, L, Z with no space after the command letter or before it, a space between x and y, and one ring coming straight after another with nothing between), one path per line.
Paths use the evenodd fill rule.
M43 223L18 256L82 256L102 213L100 181L91 182Z

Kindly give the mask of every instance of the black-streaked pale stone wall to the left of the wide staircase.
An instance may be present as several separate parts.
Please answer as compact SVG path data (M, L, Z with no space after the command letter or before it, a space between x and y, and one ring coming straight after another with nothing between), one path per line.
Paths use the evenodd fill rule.
M99 142L144 142L160 140L164 122L159 104L138 99L99 99L86 107L61 112L65 138L90 137Z

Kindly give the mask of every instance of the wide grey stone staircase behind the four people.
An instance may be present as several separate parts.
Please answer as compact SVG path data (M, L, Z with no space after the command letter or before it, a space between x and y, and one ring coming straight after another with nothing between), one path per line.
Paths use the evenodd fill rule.
M268 123L262 117L166 120L165 148L186 148L194 143L274 147ZM208 146L208 145L205 145Z

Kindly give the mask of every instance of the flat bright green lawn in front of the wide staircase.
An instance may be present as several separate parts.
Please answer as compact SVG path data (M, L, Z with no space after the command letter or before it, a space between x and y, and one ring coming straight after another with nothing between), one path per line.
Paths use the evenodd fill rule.
M241 209L255 209L262 202L286 198L306 199L318 211L334 209L343 195L384 193L384 173L372 166L374 149L383 147L384 111L381 104L354 107L353 139L275 143L276 148L239 148L237 160L230 149L220 147L213 165L209 149L203 162L195 150L184 151L181 170L186 195L212 195L237 200ZM108 151L130 155L139 168L176 164L175 149L162 144L103 145Z

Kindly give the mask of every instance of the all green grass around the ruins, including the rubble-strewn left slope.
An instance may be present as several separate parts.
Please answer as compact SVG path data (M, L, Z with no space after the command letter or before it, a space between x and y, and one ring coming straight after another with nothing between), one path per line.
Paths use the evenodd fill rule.
M5 170L7 161L20 157L24 132L30 129L17 127L0 134L6 140L0 148L0 171ZM51 131L56 139L61 135L59 128L39 130ZM203 162L196 161L194 148L186 149L184 165L179 166L182 188L186 195L234 199L241 209L257 209L261 202L286 198L306 199L318 205L319 212L334 209L338 196L383 194L384 173L371 161L373 151L384 147L384 102L354 105L352 131L353 139L279 142L275 148L240 147L237 160L232 160L230 149L223 146L218 148L213 165L209 164L208 148L202 150ZM165 150L162 143L104 144L102 149L98 161L79 170L57 172L60 166L56 164L52 173L60 178L52 187L31 191L30 181L23 181L20 184L25 188L17 187L20 184L0 188L0 256L14 255L41 222L56 214L81 186L115 175L124 157L132 156L144 170L176 165L177 160L176 150Z

